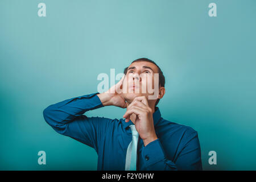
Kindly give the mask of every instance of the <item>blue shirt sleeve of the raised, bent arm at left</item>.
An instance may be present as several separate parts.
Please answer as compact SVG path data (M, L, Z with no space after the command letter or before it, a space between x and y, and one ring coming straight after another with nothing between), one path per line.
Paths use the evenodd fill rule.
M86 111L103 107L100 98L94 94L70 98L48 106L43 110L46 122L57 133L71 137L90 147L98 153L97 139L104 134L111 119L101 117L86 117Z

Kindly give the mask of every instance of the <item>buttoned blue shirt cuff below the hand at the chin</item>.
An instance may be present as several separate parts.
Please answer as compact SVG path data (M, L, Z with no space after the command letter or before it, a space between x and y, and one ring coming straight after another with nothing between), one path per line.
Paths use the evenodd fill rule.
M146 167L158 163L166 158L166 155L163 151L163 146L160 143L159 138L153 142L148 143L146 147L143 145L142 156Z

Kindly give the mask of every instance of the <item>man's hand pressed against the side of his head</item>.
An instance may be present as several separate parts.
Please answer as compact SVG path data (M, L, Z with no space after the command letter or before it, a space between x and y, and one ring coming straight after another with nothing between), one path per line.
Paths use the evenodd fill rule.
M100 98L102 104L104 106L117 106L117 107L126 107L126 102L122 96L122 84L123 80L125 78L125 75L122 77L122 79L112 86L107 92L97 94L97 96Z

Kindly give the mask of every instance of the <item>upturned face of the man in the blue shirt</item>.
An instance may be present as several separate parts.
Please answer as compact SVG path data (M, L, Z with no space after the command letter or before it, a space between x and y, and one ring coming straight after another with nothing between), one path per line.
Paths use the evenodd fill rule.
M146 96L147 99L148 96L152 97L154 94L157 96L159 79L158 77L155 78L156 75L158 76L158 67L155 64L147 61L132 63L128 67L126 77L123 80L123 98L131 103L138 96ZM156 101L157 98L154 98L154 100Z

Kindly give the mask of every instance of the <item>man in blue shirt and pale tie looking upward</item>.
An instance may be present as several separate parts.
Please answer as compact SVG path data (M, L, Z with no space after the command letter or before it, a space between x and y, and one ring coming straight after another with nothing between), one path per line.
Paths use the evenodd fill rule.
M201 170L197 132L163 119L156 107L165 93L165 78L158 65L141 58L124 73L107 92L48 106L44 119L57 133L93 147L98 154L98 170ZM150 84L156 94L148 89L142 92ZM152 94L156 97L149 99ZM110 105L126 108L122 119L83 115Z

